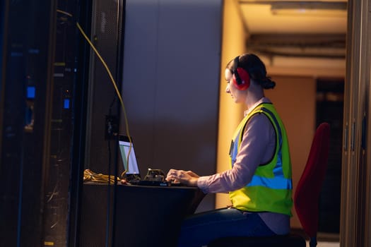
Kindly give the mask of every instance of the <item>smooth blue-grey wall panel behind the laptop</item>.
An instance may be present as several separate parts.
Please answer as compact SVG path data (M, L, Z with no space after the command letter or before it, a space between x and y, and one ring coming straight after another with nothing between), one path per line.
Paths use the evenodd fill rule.
M143 175L216 171L221 18L221 1L126 1L122 97Z

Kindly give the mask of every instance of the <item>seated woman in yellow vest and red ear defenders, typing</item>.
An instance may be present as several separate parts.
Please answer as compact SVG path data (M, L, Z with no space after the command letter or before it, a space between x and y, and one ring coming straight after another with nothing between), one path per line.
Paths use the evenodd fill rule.
M223 236L288 234L292 200L291 162L285 127L264 89L274 88L258 56L242 54L225 68L227 88L245 104L232 138L230 169L212 176L170 169L167 180L198 186L204 193L229 193L231 207L184 220L179 246L203 246Z

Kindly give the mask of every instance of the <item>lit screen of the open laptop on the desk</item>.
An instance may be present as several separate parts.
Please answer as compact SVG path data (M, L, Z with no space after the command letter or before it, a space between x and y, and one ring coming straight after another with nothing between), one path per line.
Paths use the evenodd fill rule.
M130 149L130 141L129 138L125 135L120 135L119 136L119 150L120 150L120 155L122 158L122 164L124 164L124 170L127 169L126 175L131 175L131 174L139 174L139 167L138 167L138 162L136 160L135 156L135 151L134 151L134 145L133 145L133 140L131 139L131 150L129 154L129 149ZM129 169L128 169L128 164L127 164L127 155L129 154Z

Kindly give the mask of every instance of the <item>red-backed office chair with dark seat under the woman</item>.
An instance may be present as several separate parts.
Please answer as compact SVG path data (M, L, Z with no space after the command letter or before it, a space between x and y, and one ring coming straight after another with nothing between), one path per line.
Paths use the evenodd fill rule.
M307 164L300 177L293 197L295 210L305 234L310 238L310 247L317 246L318 230L318 200L322 188L324 176L327 169L329 157L329 123L319 124ZM305 247L304 236L299 234L288 234L285 236L269 237L245 237L229 236L215 239L208 244L208 247Z

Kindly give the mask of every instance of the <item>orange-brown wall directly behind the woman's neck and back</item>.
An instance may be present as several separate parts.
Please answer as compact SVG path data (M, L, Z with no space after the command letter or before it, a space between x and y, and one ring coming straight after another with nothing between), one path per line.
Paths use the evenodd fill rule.
M293 166L293 193L307 162L312 145L316 114L316 80L300 76L272 76L276 81L266 97L273 102L285 124ZM291 227L302 228L293 209Z

